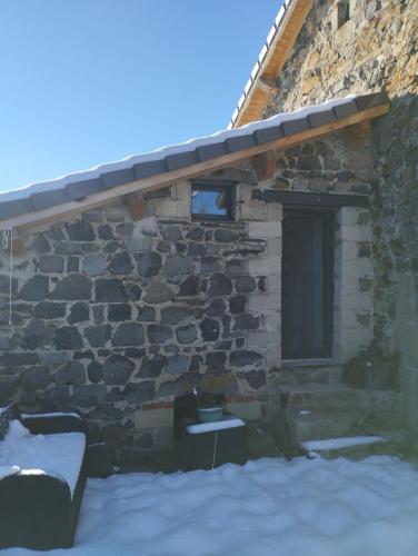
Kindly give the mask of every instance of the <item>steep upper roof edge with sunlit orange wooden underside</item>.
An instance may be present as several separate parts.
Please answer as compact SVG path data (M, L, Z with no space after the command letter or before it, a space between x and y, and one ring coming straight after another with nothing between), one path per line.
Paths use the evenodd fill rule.
M230 128L259 120L314 0L283 0L232 113Z

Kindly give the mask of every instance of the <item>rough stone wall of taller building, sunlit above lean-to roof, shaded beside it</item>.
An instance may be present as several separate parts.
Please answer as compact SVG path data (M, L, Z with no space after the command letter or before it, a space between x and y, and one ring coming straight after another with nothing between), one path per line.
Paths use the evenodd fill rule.
M401 381L417 426L418 310L418 3L351 0L335 26L337 2L317 0L278 80L265 116L349 93L386 91L391 111L372 122L375 258L374 348L401 351ZM415 417L414 417L415 415Z

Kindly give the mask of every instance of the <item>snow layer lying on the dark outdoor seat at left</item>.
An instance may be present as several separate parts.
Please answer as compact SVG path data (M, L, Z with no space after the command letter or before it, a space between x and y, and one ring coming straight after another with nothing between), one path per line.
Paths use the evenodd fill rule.
M86 448L86 437L81 433L54 435L31 435L19 420L10 423L6 438L0 441L1 469L10 475L49 475L64 480L71 490L76 489ZM6 476L6 475L3 475Z

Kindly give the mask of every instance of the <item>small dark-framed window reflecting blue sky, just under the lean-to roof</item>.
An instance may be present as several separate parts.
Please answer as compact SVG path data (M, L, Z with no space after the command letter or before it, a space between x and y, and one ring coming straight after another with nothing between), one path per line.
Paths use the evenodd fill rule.
M191 185L191 216L200 220L232 219L232 183Z

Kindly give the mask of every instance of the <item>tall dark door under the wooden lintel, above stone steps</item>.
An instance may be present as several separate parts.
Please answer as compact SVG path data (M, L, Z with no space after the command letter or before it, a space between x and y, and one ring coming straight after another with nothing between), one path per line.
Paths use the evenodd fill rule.
M330 357L332 214L285 211L282 241L282 358Z

